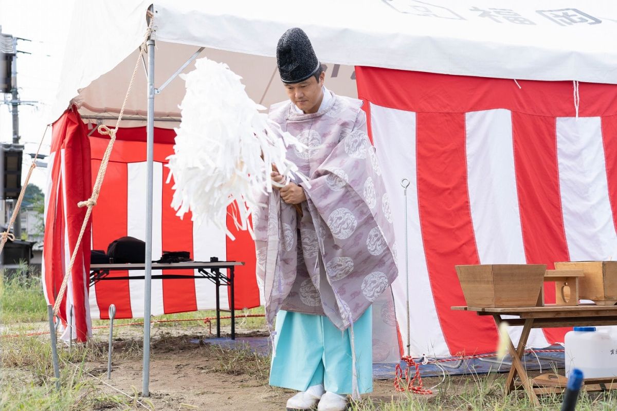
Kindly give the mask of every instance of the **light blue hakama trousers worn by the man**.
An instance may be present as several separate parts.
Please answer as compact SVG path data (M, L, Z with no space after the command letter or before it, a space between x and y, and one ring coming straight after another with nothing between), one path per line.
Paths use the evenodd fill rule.
M360 394L373 391L373 307L354 323L357 384ZM326 391L352 394L350 330L341 332L324 315L279 311L270 385L306 391L323 384Z

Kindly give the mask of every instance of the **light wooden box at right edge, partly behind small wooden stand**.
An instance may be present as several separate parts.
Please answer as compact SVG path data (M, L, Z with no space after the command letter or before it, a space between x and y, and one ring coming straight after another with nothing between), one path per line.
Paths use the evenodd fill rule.
M558 270L582 270L579 298L590 299L598 306L617 303L617 261L555 262Z

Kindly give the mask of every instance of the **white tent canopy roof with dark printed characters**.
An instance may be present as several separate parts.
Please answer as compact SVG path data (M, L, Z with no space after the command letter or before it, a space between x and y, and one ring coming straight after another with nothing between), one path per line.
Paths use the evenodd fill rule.
M108 73L104 81L83 90L80 100L95 111L117 112L133 68L133 59L127 57L141 43L151 3L76 2L62 82L50 120L64 111L78 89L104 73ZM292 26L307 32L322 62L341 67L368 65L617 84L617 48L613 44L617 2L611 0L163 0L155 2L154 10L159 44L155 86L180 67L195 46L205 46L226 51L218 55L204 51L215 60L236 55L236 67L231 68L245 77L249 95L259 101L269 83L281 89L275 84L278 73L272 76L276 67L272 57L278 38ZM339 76L341 90L331 87L335 92L344 94L352 88L351 68L346 70L345 76ZM128 112L146 108L143 70L139 75L136 87L141 91L131 99ZM184 94L181 83L172 82L173 88L158 96L157 112L178 112L176 107ZM280 91L263 103L275 97L280 100L277 93Z

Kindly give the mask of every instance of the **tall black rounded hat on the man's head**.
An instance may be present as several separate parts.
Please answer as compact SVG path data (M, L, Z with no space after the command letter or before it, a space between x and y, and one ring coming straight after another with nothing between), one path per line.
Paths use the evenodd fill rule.
M300 83L317 72L319 60L301 28L290 28L278 40L276 65L283 83Z

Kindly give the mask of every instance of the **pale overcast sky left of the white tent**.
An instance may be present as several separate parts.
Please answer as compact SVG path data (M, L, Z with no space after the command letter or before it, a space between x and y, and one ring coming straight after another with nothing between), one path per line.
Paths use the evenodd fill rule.
M19 108L20 142L25 145L23 177L30 166L45 129L46 112L51 108L62 65L62 52L67 42L67 31L75 0L0 0L2 33L30 39L18 41L19 51L31 54L17 55L17 86L22 100L36 100L35 106ZM0 94L9 99L10 94ZM41 152L49 154L51 129ZM12 141L10 106L0 104L0 142ZM31 182L41 189L46 185L45 168L36 168Z

